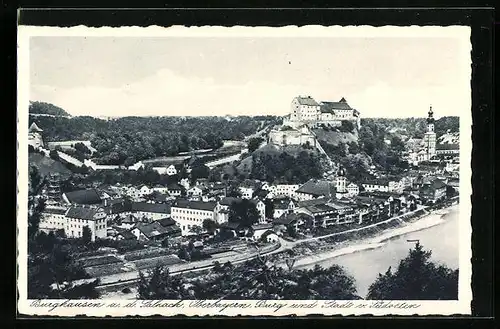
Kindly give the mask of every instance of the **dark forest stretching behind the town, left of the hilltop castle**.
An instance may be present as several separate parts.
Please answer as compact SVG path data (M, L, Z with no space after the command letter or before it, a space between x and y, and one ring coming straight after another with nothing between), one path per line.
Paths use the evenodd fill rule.
M31 113L41 105L32 103ZM54 111L53 109L51 110ZM45 112L47 112L45 110ZM216 149L223 140L242 140L277 120L260 117L122 117L102 120L89 116L32 117L45 141L90 140L99 164L131 165L139 160L173 156L196 149Z

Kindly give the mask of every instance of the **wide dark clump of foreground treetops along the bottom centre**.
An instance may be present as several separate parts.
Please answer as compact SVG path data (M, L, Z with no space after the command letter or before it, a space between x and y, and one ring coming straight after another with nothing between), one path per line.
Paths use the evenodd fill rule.
M354 279L343 268L284 269L265 256L241 265L217 263L205 276L172 277L158 266L141 277L140 299L359 299Z

